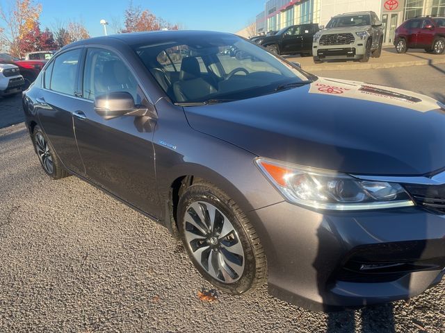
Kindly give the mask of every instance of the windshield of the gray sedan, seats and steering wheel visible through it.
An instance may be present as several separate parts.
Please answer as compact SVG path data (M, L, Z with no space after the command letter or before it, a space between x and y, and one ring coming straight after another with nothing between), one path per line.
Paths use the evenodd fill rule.
M197 35L133 46L174 103L234 101L314 78L234 35Z

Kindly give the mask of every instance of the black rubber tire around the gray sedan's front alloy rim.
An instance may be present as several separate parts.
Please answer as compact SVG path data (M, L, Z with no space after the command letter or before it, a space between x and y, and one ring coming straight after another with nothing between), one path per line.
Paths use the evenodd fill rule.
M222 237L223 236L222 234L218 233L218 231L215 231L216 229L218 229L216 227L217 224L216 219L213 220L214 221L213 223L210 223L209 221L205 222L206 225L210 224L214 226L213 231L209 231L207 236L205 236L207 237L206 240L198 241L197 243L194 242L196 240L192 240L190 241L190 243L188 243L188 241L186 240L186 232L188 232L188 234L190 235L191 234L190 230L197 230L192 225L192 223L188 222L188 220L191 218L190 217L191 215L188 215L188 217L186 218L186 213L188 214L188 212L192 213L195 212L195 210L193 210L193 207L191 208L190 206L196 205L198 202L199 202L198 204L199 207L202 207L202 204L204 204L205 208L204 212L209 212L207 208L212 206L216 208L216 210L220 211L218 213L218 216L223 216L223 219L220 219L219 221L224 221L224 222L219 224L225 225L224 223L227 223L227 221L229 221L229 225L236 232L235 235L237 238L236 238L236 243L234 243L234 245L238 244L239 246L239 244L241 244L242 246L244 266L243 266L243 272L241 273L241 275L237 275L238 280L236 280L235 282L226 283L224 281L217 280L217 278L213 278L213 276L208 271L206 271L206 269L204 269L202 264L200 262L197 262L197 259L195 259L195 257L193 256L192 246L195 246L196 248L195 253L197 250L201 249L200 252L201 262L204 263L207 262L207 265L209 267L209 263L212 262L211 259L213 252L208 252L207 249L213 246L213 248L211 248L210 251L216 249L215 252L217 253L216 254L217 257L219 253L223 253L223 251L225 251L225 249L220 243L215 245L215 243L214 242L212 243L211 241L211 239L218 239L218 237L221 237L220 239L225 239L225 237ZM217 214L215 213L214 216L216 215ZM257 233L255 232L248 218L241 211L238 205L236 205L234 200L229 198L229 196L227 196L223 191L218 189L218 187L215 187L209 182L198 182L188 187L181 195L181 198L179 198L177 216L178 216L179 234L183 241L184 248L186 248L188 256L191 258L193 265L195 265L195 267L202 274L202 276L207 281L211 282L211 284L213 284L214 286L218 287L218 289L221 289L222 291L225 291L227 293L239 295L242 293L249 293L251 291L254 291L258 287L261 287L266 282L266 274L267 274L266 255L264 253L263 247L261 246ZM210 216L210 214L206 214L206 216ZM208 228L208 230L211 230L211 228ZM222 227L219 230L221 231ZM203 234L201 231L199 232L200 234ZM195 232L193 232L192 237L194 234ZM215 235L217 237L215 237ZM203 250L204 248L206 249ZM223 257L223 254L221 254L221 257ZM227 256L223 258L227 259ZM230 263L233 266L233 262ZM225 264L227 264L227 260L225 260ZM216 272L216 270L213 272ZM221 273L222 270L219 269L218 272ZM227 271L225 271L225 273L227 274ZM216 273L216 275L218 275L218 273Z

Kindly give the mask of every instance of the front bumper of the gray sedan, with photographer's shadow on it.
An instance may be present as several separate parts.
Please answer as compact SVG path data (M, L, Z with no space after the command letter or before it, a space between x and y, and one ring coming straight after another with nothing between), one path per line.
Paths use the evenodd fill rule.
M283 202L249 217L269 293L314 311L407 299L445 273L445 215L420 207L323 214Z

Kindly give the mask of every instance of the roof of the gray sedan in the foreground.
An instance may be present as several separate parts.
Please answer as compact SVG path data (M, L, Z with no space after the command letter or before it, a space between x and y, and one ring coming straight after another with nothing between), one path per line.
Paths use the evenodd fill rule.
M234 36L232 33L220 33L216 31L191 31L191 30L169 30L169 31L145 31L142 33L119 33L117 35L108 35L102 37L92 37L87 40L79 40L68 44L63 49L77 45L86 44L110 44L113 41L124 42L129 46L140 44L142 42L161 43L167 40L175 40L188 37L207 37L207 36Z

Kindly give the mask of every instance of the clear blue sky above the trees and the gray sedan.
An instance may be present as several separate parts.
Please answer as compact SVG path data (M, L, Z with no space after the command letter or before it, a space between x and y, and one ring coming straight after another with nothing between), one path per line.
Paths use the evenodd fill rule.
M0 0L0 6L7 6L10 0ZM81 21L92 37L103 35L99 24L105 19L123 22L127 0L40 0L42 14L40 27L56 28L58 23L70 20ZM249 23L264 8L263 0L133 0L133 6L140 5L154 15L172 24L180 24L185 29L225 31L235 33ZM108 33L113 33L109 25Z

